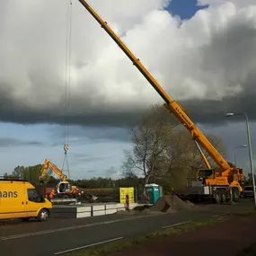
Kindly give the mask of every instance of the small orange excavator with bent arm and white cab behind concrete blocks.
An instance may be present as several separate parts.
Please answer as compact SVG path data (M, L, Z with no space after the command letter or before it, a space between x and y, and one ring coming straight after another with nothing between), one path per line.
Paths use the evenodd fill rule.
M49 161L49 158L47 158L42 165L41 172L40 172L40 183L44 182L44 178L49 168L53 172L55 172L60 179L60 181L57 183L55 191L52 191L50 193L51 201L52 202L75 201L77 188L75 186L71 186L71 184L67 181L67 176L61 170L59 170L54 163L51 163Z

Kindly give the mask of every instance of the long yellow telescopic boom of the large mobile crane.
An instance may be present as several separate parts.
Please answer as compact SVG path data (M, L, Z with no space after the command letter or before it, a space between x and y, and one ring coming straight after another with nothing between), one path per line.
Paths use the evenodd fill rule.
M207 151L207 154L209 154L213 158L213 160L223 172L229 170L231 167L225 161L222 155L217 152L216 148L209 142L207 137L205 137L204 134L199 130L199 128L196 127L196 125L188 117L185 111L182 110L179 103L175 102L172 97L164 91L163 87L154 79L154 76L147 71L146 67L143 66L140 60L128 49L124 42L119 39L119 36L111 30L108 23L104 22L100 15L96 13L85 0L78 1L84 5L85 9L89 13L93 15L95 20L99 22L102 28L110 35L112 40L114 40L119 45L119 48L124 51L124 53L132 61L133 65L136 66L140 73L146 77L146 80L154 87L154 90L159 93L159 95L163 98L163 101L166 103L167 109L170 110L174 114L174 116L181 121L183 126L190 131L193 139L195 139L199 143L199 145Z

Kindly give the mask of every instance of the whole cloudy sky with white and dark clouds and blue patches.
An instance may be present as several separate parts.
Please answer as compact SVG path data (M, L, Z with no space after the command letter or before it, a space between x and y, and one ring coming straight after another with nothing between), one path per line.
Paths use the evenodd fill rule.
M1 3L0 174L45 158L62 167L69 1ZM163 100L84 7L72 2L71 178L119 178L123 150L131 148L127 126ZM223 138L229 161L247 137L244 119L226 119L225 112L248 114L256 150L254 2L89 1L199 128ZM248 161L248 148L239 148L237 163L245 172Z

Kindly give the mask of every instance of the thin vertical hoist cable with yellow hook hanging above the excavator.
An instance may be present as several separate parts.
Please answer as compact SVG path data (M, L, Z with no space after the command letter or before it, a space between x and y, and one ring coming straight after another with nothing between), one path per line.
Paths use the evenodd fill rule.
M68 178L70 179L70 172L67 160L67 150L68 150L68 117L70 110L70 59L71 59L71 36L72 36L72 0L68 0L66 9L66 79L65 79L65 143L64 143L64 161L62 164L62 172L64 172L65 164L66 170L68 172Z

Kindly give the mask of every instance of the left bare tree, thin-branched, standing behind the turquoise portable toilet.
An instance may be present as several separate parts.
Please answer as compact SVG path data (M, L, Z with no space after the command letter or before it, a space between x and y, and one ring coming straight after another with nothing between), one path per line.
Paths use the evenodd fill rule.
M130 128L133 149L125 151L124 172L140 172L145 183L154 181L160 171L162 155L166 149L166 141L172 134L170 112L161 105L154 105L139 120L137 127Z

